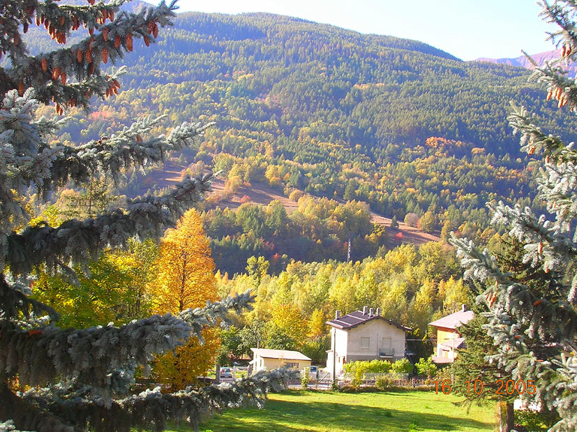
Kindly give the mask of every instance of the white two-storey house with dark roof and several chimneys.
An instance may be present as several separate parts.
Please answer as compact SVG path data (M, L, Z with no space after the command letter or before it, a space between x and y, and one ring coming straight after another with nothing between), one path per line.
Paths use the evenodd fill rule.
M331 349L327 351L327 370L334 376L343 373L343 365L357 360L389 360L405 357L405 333L411 329L387 320L380 315L380 308L365 306L327 321L331 329Z

